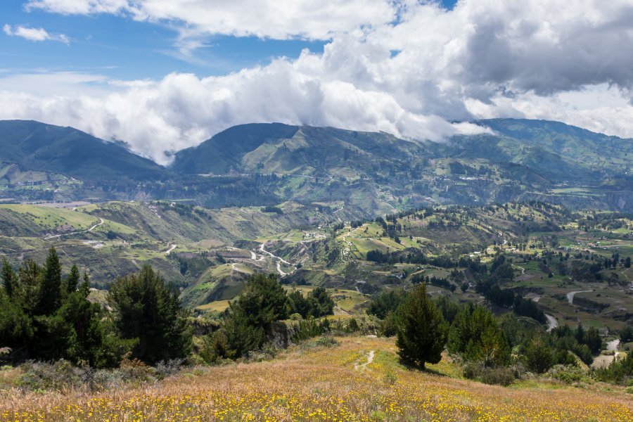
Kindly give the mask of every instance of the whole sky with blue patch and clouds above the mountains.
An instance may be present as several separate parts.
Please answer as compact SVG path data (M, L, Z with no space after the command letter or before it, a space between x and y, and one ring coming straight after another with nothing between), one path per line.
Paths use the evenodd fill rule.
M631 0L3 0L0 119L167 165L235 124L443 141L474 120L633 138Z

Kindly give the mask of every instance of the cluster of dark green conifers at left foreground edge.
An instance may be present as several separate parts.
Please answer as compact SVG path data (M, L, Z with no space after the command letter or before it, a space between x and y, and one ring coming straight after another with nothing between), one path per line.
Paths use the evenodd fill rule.
M25 260L15 270L2 261L0 347L5 359L67 359L95 368L122 359L148 364L184 358L191 351L188 311L160 274L146 265L110 285L103 307L89 300L90 281L73 265L62 276L55 248L40 265Z

